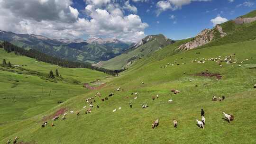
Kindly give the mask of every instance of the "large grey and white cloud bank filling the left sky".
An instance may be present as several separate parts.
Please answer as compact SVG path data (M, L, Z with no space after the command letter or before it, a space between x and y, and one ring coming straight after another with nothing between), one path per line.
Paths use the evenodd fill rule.
M0 29L51 38L109 36L136 42L148 25L135 14L124 15L110 0L85 0L86 17L72 0L0 0ZM29 10L27 10L29 9Z

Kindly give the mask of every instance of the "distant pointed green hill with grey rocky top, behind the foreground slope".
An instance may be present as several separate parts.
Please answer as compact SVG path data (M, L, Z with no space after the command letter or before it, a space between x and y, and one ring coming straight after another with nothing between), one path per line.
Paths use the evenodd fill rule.
M134 56L142 57L148 54L153 54L159 49L160 45L166 45L163 36L157 36L158 38L146 43L145 45L139 46L137 49L128 51L128 53L121 54L116 56L108 61L102 61L101 67L106 69L121 69L125 64L128 63L128 60ZM160 44L160 45L159 45Z

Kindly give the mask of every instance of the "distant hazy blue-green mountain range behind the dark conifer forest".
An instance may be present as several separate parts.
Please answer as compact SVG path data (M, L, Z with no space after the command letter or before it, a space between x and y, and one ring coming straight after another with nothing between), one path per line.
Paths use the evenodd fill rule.
M0 31L0 40L24 49L36 49L45 54L79 62L97 63L125 52L130 44L114 38L51 39L41 35L15 34Z

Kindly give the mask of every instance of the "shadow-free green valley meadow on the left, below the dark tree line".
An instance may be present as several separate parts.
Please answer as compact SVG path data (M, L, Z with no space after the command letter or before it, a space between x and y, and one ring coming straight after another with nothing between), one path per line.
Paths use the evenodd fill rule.
M0 60L6 59L12 64L23 66L28 71L41 72L46 75L50 70L58 69L64 78L55 82L47 81L37 75L18 74L0 70L0 127L38 115L57 106L57 101L65 101L89 90L82 88L82 83L103 79L107 75L90 69L61 68L43 62L36 62L25 56L6 53L0 49ZM3 68L0 66L0 68ZM18 69L7 69L15 70ZM44 76L43 76L44 78ZM18 80L16 82L15 80ZM74 83L80 81L79 84ZM68 91L70 87L70 91ZM13 99L15 98L15 99Z

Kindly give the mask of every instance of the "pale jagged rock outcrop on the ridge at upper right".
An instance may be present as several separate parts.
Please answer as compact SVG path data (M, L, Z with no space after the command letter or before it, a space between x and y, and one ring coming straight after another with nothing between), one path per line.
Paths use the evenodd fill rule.
M196 48L198 46L210 43L216 36L224 37L227 34L223 32L222 27L219 25L213 27L212 29L204 29L201 31L194 39L186 44L179 46L179 50L185 51Z

